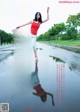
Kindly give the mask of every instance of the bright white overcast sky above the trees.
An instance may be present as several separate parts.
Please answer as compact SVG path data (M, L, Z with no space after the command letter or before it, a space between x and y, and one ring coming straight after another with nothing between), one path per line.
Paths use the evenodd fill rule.
M0 29L11 33L17 26L34 19L36 12L41 12L42 19L47 17L47 7L50 7L50 20L40 26L38 35L45 33L56 23L66 22L69 15L80 12L79 3L59 3L71 0L0 0ZM30 25L20 28L29 33Z

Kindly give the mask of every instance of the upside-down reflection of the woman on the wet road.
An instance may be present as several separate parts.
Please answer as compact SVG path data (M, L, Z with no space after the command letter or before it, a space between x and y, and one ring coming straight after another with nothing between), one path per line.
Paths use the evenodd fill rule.
M35 71L31 73L31 80L32 80L32 85L33 89L35 92L33 92L33 95L36 95L40 97L42 102L46 102L47 100L47 95L51 96L52 99L52 105L54 106L54 96L53 94L46 92L43 88L42 85L40 84L40 80L38 77L38 62L35 62Z

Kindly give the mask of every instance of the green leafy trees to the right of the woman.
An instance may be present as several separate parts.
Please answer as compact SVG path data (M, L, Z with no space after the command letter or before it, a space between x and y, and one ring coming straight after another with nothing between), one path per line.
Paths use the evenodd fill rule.
M70 15L66 23L66 25L65 23L54 24L51 29L44 34L41 34L37 40L47 41L80 39L80 34L78 34L77 29L80 26L80 13L76 15Z

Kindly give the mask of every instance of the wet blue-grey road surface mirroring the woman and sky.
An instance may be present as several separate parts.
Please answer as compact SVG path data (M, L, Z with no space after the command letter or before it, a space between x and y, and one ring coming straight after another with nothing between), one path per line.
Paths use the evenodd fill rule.
M80 54L40 43L37 53L38 63L17 47L0 62L0 103L10 112L80 112Z

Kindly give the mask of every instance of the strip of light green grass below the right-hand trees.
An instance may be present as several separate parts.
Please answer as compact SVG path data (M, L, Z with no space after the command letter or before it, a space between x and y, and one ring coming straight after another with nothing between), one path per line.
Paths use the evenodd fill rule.
M80 47L80 40L52 40L52 41L42 41L43 43L51 43L51 44L60 44L60 45L65 45L65 46L76 46Z

